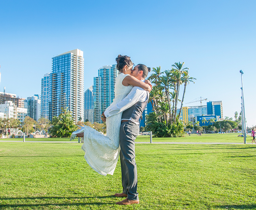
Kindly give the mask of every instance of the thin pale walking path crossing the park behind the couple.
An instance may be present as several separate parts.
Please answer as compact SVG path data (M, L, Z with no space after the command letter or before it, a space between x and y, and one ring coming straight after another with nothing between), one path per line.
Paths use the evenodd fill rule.
M0 140L0 142L23 142L22 141L6 141ZM78 143L77 141L26 141L28 143ZM135 142L135 144L150 144L150 142ZM223 142L153 142L153 144L244 144L244 143L223 143ZM252 144L247 142L246 144Z

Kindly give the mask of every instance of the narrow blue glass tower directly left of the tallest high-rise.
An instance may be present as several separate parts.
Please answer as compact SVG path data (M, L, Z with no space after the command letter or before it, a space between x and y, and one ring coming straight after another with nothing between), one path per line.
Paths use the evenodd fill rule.
M41 117L49 119L49 81L50 73L41 79Z

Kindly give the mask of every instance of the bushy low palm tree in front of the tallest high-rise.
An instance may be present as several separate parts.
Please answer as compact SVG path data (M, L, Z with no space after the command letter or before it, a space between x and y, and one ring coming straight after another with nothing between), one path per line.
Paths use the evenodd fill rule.
M61 112L62 113L58 117L53 117L53 127L50 129L50 135L58 138L67 138L77 129L77 126L75 125L72 114L68 111L68 108L61 108Z

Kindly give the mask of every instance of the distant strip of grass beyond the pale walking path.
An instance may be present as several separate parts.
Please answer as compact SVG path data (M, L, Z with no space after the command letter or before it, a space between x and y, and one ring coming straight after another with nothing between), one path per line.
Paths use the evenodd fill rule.
M203 134L202 136L197 136L192 134L191 136L186 135L185 137L178 138L153 138L153 142L212 142L212 143L244 143L244 137L238 137L241 133L223 133L223 134ZM20 139L0 139L5 141L23 141ZM69 141L69 138L26 138L25 141ZM76 138L73 141L78 141ZM138 136L136 142L150 142L150 136ZM252 137L250 134L246 138L247 143L252 142Z

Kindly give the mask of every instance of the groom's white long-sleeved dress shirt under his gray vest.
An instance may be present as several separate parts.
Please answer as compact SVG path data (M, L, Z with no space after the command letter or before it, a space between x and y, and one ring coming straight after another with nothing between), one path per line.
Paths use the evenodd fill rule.
M108 107L106 111L104 112L106 118L113 116L115 114L118 114L120 112L123 112L124 110L130 108L136 102L141 101L144 102L147 100L148 93L146 90L140 87L133 87L131 92L120 102L118 102L116 105L112 107ZM122 119L122 120L131 120L130 119ZM132 120L131 120L132 121ZM138 124L137 122L132 121L133 123Z

